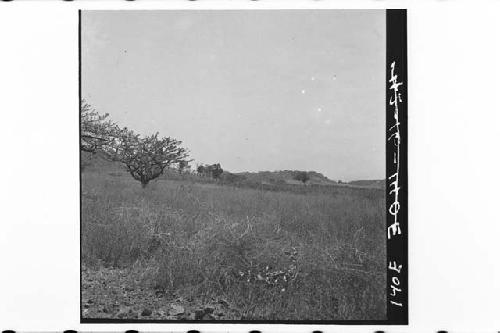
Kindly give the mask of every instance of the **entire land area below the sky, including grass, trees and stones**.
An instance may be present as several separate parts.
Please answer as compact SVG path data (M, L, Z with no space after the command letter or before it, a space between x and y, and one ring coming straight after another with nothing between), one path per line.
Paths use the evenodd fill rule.
M384 191L315 172L189 171L178 140L87 104L82 122L85 318L385 318Z

